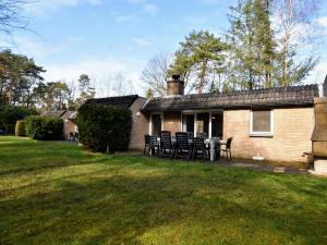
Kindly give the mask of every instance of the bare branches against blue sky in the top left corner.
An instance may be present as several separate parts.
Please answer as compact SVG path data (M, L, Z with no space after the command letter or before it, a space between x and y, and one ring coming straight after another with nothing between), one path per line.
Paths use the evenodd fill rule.
M0 33L11 35L13 29L26 28L23 15L26 3L28 0L0 0Z

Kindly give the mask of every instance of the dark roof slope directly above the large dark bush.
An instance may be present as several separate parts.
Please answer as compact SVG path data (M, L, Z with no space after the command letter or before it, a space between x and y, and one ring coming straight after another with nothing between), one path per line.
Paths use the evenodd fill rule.
M88 99L86 103L100 103L100 105L128 109L138 98L140 98L138 95L117 96L117 97L108 97L108 98L100 98L100 99Z

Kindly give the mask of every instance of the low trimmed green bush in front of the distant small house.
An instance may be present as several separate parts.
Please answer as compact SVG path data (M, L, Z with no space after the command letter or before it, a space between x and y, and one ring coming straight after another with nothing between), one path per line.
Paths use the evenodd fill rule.
M63 139L62 119L31 115L25 120L26 135L38 140Z

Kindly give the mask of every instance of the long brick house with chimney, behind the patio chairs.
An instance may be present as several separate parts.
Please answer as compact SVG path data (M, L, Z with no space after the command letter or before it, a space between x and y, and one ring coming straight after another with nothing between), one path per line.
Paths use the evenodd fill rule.
M302 155L312 150L317 85L201 95L183 95L183 90L184 83L174 77L167 97L147 101L142 111L149 134L205 132L225 140L233 137L237 158L306 161Z

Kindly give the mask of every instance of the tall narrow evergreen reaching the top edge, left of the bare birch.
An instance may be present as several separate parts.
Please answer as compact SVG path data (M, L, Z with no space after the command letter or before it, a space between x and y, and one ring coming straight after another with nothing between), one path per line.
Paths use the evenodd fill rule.
M268 11L262 0L239 0L230 8L227 39L233 76L239 87L271 87L275 40Z

